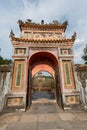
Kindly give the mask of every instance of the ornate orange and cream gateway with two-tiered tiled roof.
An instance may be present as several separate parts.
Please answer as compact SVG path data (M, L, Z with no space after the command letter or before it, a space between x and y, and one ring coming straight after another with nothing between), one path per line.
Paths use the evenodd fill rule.
M20 37L10 33L13 47L13 76L5 107L23 108L32 104L32 77L39 71L49 72L55 80L56 102L61 107L79 104L73 73L73 44L76 33L67 39L67 21L60 24L18 21Z

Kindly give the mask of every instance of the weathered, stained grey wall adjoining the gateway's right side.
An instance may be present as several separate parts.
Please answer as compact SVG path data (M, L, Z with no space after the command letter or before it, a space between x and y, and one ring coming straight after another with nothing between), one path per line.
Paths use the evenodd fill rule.
M76 89L81 93L81 102L87 104L87 65L75 65Z

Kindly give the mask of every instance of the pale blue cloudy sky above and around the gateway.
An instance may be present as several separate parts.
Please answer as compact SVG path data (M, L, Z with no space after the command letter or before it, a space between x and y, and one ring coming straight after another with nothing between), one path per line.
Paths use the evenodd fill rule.
M87 44L87 0L0 0L0 55L12 58L12 45L9 38L11 29L16 37L20 36L18 20L32 19L40 23L60 23L68 21L66 37L70 38L74 32L77 37L73 46L74 63L84 61L83 48Z

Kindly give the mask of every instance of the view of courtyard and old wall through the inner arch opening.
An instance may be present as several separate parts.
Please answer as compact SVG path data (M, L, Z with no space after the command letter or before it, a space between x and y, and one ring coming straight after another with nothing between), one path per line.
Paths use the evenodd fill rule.
M32 101L45 102L55 99L55 79L47 71L39 71L32 77Z

